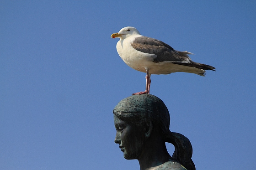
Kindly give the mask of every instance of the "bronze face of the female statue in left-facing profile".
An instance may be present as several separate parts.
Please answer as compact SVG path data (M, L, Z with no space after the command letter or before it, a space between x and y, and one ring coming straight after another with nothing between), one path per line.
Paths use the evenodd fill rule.
M143 129L133 124L127 124L114 115L115 128L117 130L115 143L123 151L123 157L127 160L138 159L143 149L145 133Z

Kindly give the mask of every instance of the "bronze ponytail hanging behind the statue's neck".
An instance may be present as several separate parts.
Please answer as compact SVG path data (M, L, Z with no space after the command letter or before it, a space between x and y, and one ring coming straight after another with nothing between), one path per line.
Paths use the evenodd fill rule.
M174 152L172 157L179 161L187 170L196 170L194 162L192 161L192 145L186 136L171 132L165 135L165 141L174 145Z

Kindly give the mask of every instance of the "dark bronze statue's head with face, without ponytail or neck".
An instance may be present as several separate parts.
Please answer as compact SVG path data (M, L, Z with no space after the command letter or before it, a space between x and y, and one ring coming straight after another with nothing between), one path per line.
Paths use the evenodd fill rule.
M169 131L170 115L160 98L150 94L133 95L121 100L113 110L117 135L115 142L125 159L138 159L145 140L155 129Z

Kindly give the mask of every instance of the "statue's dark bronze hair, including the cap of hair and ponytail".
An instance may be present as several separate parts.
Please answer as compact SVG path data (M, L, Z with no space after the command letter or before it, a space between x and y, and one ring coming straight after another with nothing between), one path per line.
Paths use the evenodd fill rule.
M170 113L160 98L151 94L133 95L121 100L113 113L117 118L139 126L151 121L160 128L165 142L174 145L172 157L187 170L196 170L191 159L192 145L184 135L170 131Z

